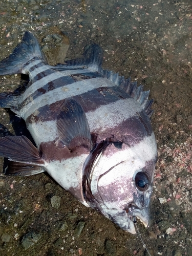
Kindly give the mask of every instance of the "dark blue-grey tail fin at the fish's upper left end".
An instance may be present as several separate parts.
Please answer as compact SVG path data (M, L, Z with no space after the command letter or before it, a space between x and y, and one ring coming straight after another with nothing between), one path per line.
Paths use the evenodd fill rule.
M37 39L26 31L22 42L15 47L13 53L0 61L0 75L21 73L25 63L34 57L43 59Z

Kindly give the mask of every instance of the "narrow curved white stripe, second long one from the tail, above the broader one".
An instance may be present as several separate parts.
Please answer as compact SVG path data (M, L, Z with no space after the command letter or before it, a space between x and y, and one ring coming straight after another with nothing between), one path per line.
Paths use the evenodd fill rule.
M43 67L47 67L47 69L50 69L50 66L43 66ZM57 78L64 77L64 76L69 76L69 75L74 75L74 74L83 74L83 73L89 73L90 72L89 69L65 70L65 71L62 71L62 72L55 71L53 69L52 71L53 71L53 73L49 74L48 76L42 77L40 80L37 80L33 84L31 84L31 86L20 97L19 103L22 103L22 101L24 101L29 95L33 94L35 91L37 91L41 87L45 86L45 84L48 84L49 82L51 82L51 81L53 81ZM40 72L38 72L38 73L40 73Z

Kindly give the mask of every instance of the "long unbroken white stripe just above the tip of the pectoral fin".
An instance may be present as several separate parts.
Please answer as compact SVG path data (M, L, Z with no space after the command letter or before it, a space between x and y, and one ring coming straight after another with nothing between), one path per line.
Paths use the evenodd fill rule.
M50 105L52 103L55 103L56 101L86 93L101 86L113 87L114 83L112 83L108 79L97 77L77 81L72 84L69 84L69 86L56 88L53 91L38 96L37 98L29 102L27 105L25 105L25 107L22 110L20 110L20 116L26 119L28 116L34 113L35 110L38 110L42 106L45 106L47 104Z

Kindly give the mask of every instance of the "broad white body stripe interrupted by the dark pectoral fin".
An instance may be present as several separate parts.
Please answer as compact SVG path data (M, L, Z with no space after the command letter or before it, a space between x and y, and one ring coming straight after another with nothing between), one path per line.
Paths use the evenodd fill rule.
M63 98L63 95L61 96L61 98ZM35 103L33 108L36 109L39 104L40 103ZM119 99L111 104L100 106L100 108L95 111L86 113L86 117L91 133L95 132L97 134L105 129L119 125L122 121L134 116L136 112L140 112L141 110L141 106L133 98ZM28 113L25 115L25 118L28 116ZM28 130L37 145L39 145L40 142L54 141L58 137L55 120L29 123Z

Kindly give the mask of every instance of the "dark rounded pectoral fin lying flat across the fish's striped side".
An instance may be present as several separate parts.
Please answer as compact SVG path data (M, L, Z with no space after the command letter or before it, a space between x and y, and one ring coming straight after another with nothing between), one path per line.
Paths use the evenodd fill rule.
M78 146L84 146L90 150L91 134L88 121L77 101L68 99L62 105L57 116L57 130L59 140L70 150Z

